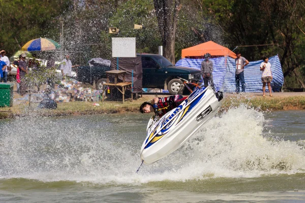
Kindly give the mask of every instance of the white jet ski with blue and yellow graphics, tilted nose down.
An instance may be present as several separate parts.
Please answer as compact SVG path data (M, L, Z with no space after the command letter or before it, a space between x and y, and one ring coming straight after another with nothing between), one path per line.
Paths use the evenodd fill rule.
M177 108L159 119L152 116L147 124L140 157L149 165L169 155L199 130L221 108L222 92L210 86L192 92Z

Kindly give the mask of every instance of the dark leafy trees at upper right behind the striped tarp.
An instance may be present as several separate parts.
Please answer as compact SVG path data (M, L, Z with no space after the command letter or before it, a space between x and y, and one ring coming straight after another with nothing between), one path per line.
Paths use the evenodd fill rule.
M202 12L213 16L224 29L224 37L231 47L279 44L278 54L286 85L302 85L304 77L297 78L293 72L298 73L304 66L303 0L207 0L200 1L200 4ZM250 60L261 59L262 55L275 55L275 51L266 46L242 49L243 55ZM288 80L288 77L293 79Z

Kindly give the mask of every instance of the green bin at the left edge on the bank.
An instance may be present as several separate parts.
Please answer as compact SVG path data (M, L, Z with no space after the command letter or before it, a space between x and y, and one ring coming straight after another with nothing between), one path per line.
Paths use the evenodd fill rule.
M0 107L13 106L14 83L0 83Z

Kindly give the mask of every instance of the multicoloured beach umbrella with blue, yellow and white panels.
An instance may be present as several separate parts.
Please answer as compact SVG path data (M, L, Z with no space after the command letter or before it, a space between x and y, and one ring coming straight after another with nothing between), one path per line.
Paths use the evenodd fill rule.
M48 51L60 48L60 45L54 40L47 38L38 38L28 41L23 47L22 51Z

